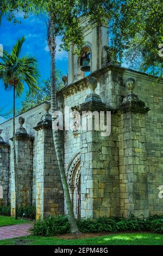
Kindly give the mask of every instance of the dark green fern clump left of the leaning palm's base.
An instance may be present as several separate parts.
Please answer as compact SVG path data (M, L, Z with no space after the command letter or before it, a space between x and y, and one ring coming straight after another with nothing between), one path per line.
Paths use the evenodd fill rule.
M66 216L49 216L45 220L41 218L34 223L32 234L40 236L51 236L68 233L70 225Z

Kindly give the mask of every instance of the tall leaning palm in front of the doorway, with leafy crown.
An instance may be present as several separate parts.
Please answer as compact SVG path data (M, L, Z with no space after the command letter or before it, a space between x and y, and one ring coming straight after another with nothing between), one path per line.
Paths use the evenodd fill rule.
M83 42L83 40L82 40L83 34L81 33L82 30L79 29L79 26L77 25L77 20L76 20L76 22L74 22L74 19L73 19L72 9L75 14L76 14L76 11L78 11L76 8L78 5L78 1L77 1L77 5L75 2L76 1L70 1L70 2L69 1L67 1L67 2L30 1L29 4L24 5L24 7L26 6L25 9L27 11L27 14L31 10L34 11L34 13L37 13L38 10L41 10L42 12L45 11L45 13L47 13L48 17L49 17L47 42L48 42L49 51L51 53L52 113L54 113L57 110L57 94L56 94L56 92L57 92L56 80L57 79L56 79L56 69L55 69L55 52L56 52L56 40L55 39L56 39L56 35L61 35L61 32L64 31L65 27L71 28L71 29L69 29L69 33L71 34L71 38L73 39L73 41L75 40L75 38L77 38L78 44L79 44L79 42L80 42L80 44L82 44L82 42ZM14 6L12 5L12 7L14 7ZM19 4L16 5L16 8L17 9L20 8ZM0 10L0 24L1 24L2 16L9 9L10 8L7 6L6 8L4 8L4 10L2 8L2 10L3 10L2 12ZM64 13L63 13L62 9L66 9L67 11L64 11ZM20 10L22 10L22 9L20 8ZM59 13L59 15L57 15L58 13ZM68 17L68 25L67 25L67 17ZM66 31L67 31L67 29L66 29ZM72 31L73 31L73 33L72 33ZM79 38L80 38L80 40L79 40ZM60 170L60 174L61 174L62 186L64 189L64 195L65 195L65 200L66 200L66 205L67 205L67 210L68 210L68 219L70 222L70 228L71 228L72 233L79 234L80 232L77 227L76 218L74 217L73 206L72 206L72 202L71 202L71 198L70 198L70 193L68 191L67 179L66 179L65 168L64 168L64 160L63 160L61 148L60 148L59 134L58 134L58 131L55 130L54 124L55 124L55 118L53 118L53 116L52 116L53 141L54 141L55 153L57 155L59 170Z

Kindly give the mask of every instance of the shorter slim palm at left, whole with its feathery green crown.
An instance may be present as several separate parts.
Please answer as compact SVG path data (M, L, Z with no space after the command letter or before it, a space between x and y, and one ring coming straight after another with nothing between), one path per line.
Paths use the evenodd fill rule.
M5 90L13 90L13 157L14 157L14 174L15 174L15 219L17 219L17 163L15 151L15 97L20 97L24 90L24 83L28 85L29 92L35 93L37 87L37 61L34 57L20 57L25 37L18 39L11 53L3 51L3 57L0 59L0 80L3 81Z

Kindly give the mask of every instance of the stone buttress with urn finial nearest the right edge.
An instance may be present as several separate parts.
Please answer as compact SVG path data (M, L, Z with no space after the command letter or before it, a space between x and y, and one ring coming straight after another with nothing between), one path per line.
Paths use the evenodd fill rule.
M148 216L149 167L146 162L146 113L149 108L133 93L135 80L128 78L129 94L120 105L118 118L121 216Z

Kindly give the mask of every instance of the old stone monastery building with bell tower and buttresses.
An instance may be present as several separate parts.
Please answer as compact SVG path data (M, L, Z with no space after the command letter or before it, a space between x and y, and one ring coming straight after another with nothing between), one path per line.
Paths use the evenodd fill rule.
M73 54L75 46L70 47L58 108L105 111L105 119L106 111L111 111L111 133L60 131L74 214L82 218L161 215L163 84L153 86L154 77L112 62L108 27L91 27L84 17L81 22L86 45L80 58ZM97 117L93 120L96 124ZM0 128L0 204L11 204L13 215L12 119ZM49 103L18 115L16 129L18 204L35 205L36 218L66 212Z

